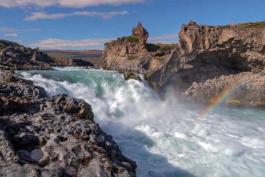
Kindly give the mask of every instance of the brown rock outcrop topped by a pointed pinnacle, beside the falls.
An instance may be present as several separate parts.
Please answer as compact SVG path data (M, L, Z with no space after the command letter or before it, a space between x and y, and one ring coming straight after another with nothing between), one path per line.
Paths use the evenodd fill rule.
M139 22L137 27L132 29L131 36L122 36L105 43L105 49L97 65L103 69L141 73L163 66L163 61L155 60L152 53L148 51L147 38L148 32Z

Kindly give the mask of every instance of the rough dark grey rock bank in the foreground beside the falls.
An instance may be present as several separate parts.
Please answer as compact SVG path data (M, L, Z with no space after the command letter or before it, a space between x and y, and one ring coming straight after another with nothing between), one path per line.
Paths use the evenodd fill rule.
M136 176L84 100L46 97L12 72L0 80L0 176Z

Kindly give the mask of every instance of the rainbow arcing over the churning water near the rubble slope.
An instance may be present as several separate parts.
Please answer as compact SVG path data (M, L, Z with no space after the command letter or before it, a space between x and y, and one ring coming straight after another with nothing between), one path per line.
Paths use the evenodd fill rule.
M218 106L225 101L225 99L227 98L227 96L233 92L233 90L235 90L235 88L240 85L243 81L235 81L235 83L230 86L229 89L227 89L225 92L223 92L220 96L216 96L211 103L209 104L209 106L200 114L200 116L197 118L194 126L191 129L191 132L193 133L197 133L200 124L205 120L205 118L209 115L209 113L213 112L216 110L216 108L218 108Z

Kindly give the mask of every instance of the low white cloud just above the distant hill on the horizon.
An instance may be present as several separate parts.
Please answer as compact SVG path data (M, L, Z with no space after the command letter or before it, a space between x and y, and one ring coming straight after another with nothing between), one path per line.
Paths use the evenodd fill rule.
M65 39L44 39L30 43L30 47L40 47L49 49L63 49L66 47L86 48L86 47L104 47L104 43L116 38L65 40Z

